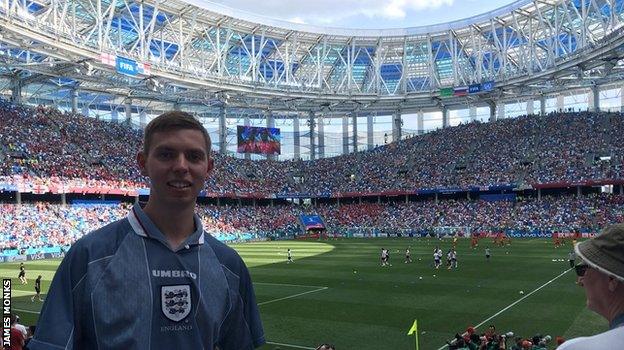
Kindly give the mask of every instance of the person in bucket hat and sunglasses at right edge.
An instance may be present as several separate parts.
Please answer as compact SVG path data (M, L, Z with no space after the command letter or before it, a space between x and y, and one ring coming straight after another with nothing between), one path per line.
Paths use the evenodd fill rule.
M575 266L585 288L587 308L609 321L610 329L570 339L557 350L624 349L624 224L608 226L598 236L574 246Z

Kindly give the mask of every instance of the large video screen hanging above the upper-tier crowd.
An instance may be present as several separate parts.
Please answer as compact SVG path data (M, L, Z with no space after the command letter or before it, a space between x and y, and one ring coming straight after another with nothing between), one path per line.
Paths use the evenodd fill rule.
M281 154L282 151L282 136L277 128L238 125L236 138L238 153Z

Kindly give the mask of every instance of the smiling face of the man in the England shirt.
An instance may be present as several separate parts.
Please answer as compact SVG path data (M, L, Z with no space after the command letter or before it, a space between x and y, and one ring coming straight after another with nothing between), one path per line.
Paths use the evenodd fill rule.
M141 174L150 178L150 202L194 204L213 167L199 130L156 132L148 154L140 152Z

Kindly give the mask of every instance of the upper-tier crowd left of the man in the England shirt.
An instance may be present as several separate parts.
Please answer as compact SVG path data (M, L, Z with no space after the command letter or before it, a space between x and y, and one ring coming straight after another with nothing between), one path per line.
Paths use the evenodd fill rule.
M0 100L0 177L45 186L143 187L134 165L140 135L123 125Z

